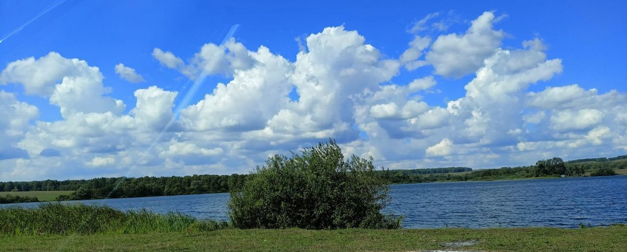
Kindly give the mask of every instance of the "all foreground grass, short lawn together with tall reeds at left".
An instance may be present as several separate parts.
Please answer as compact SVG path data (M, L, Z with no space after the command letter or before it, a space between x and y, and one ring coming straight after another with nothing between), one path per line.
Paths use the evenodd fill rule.
M627 226L488 229L234 229L177 213L46 203L0 209L0 251L626 251ZM457 249L457 248L456 248Z

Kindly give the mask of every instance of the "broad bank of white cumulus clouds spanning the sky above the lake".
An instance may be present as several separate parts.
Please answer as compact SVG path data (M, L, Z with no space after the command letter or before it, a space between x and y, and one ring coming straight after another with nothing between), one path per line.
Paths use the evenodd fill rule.
M246 173L270 155L329 138L391 169L527 165L627 150L627 94L555 82L530 92L562 73L562 61L547 58L540 39L500 48L497 19L483 13L465 33L433 43L414 34L398 59L343 26L307 36L295 60L234 39L203 45L186 61L155 48L161 65L190 80L226 78L180 114L172 111L178 93L156 86L135 90L126 110L83 60L54 52L16 60L0 84L48 98L63 118L38 121L37 107L0 90L0 177ZM433 28L428 21L414 32ZM401 68L425 64L433 75L394 81ZM439 76L469 73L461 97L444 106L424 98L448 85Z

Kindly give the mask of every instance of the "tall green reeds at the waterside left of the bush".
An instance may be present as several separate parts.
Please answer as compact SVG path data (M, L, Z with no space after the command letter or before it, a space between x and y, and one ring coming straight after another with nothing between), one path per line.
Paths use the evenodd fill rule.
M0 234L148 234L214 231L226 221L198 220L181 213L120 211L105 205L44 203L34 208L0 209Z

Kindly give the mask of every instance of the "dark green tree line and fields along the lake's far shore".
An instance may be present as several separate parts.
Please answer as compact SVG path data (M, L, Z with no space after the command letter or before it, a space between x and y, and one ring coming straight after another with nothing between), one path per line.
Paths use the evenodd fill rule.
M566 162L556 157L539 160L535 165L500 169L473 170L469 167L442 167L377 172L384 174L391 184L532 179L560 177L561 175L565 177L611 176L627 174L627 155ZM87 180L0 182L0 204L229 192L230 187L241 184L246 176L248 175L100 177Z

